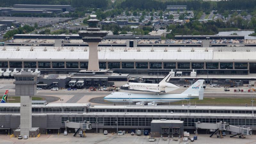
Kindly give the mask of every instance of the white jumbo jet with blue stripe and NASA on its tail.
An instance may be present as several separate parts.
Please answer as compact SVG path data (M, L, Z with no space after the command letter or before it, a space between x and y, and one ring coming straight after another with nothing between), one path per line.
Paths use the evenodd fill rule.
M190 100L199 97L199 91L202 89L204 80L197 80L187 90L182 93L176 94L140 94L129 92L112 92L108 96L104 97L104 100L114 103L131 102L136 105L156 106L157 103L163 102L175 102L180 100Z

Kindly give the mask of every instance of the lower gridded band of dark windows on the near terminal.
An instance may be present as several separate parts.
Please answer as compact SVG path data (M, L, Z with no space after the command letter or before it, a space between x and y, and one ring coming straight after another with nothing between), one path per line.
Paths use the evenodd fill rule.
M256 120L253 119L235 119L235 118L180 118L180 117L99 117L97 119L98 126L115 126L116 121L118 126L150 126L152 120L180 120L184 121L183 125L185 127L194 127L195 123L200 121L201 123L216 123L216 122L227 122L230 125L255 125ZM61 117L61 123L64 124L69 120L70 122L81 122L81 121L89 121L92 125L96 125L96 118L95 117Z

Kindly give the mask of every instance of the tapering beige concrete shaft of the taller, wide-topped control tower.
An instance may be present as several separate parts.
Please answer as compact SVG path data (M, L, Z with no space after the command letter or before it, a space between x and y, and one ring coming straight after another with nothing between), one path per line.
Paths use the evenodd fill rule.
M88 42L89 45L89 61L88 70L100 70L98 59L98 44L99 42Z

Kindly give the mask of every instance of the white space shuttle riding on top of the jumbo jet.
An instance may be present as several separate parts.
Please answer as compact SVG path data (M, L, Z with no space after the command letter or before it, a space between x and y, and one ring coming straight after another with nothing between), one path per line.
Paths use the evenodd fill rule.
M180 87L168 83L172 73L170 72L164 79L159 82L159 84L147 84L147 83L128 83L122 85L120 89L124 90L136 90L136 91L144 91L144 92L157 92L157 93L164 93L164 92L171 92Z

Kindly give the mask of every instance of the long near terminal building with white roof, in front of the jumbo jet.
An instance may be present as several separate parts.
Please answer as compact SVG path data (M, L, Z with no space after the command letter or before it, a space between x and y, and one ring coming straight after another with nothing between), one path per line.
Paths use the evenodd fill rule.
M194 133L195 123L227 122L234 126L244 125L255 132L254 120L256 111L246 106L111 106L90 105L90 103L49 103L32 105L32 127L38 127L41 134L64 132L67 120L92 123L92 130L86 132L116 132L118 130L135 131L135 129L156 131L155 120L174 120L181 123L181 133ZM20 125L20 103L3 103L0 105L1 134L13 132ZM180 121L180 122L179 122ZM156 123L156 122L154 122ZM162 124L158 124L162 126ZM177 126L177 125L176 125ZM166 127L165 127L166 128ZM161 128L159 129L161 131ZM68 132L75 132L68 129ZM198 133L209 133L209 130L198 130ZM182 135L181 135L182 136Z

